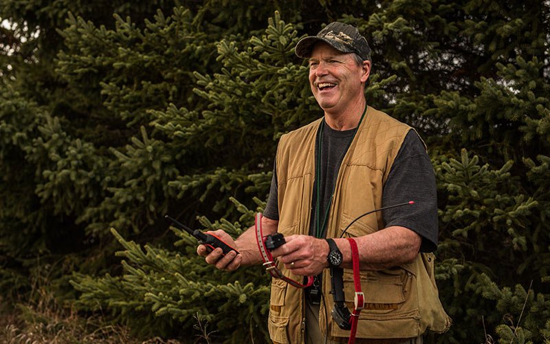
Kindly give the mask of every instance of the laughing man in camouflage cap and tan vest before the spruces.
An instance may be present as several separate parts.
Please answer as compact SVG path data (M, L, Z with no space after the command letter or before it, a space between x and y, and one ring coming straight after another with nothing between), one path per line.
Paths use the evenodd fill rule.
M450 326L429 253L437 246L437 195L426 147L414 129L366 104L371 49L357 28L331 23L300 40L296 55L308 58L311 92L324 116L281 138L263 231L285 236L286 243L272 251L285 275L316 281L307 290L272 281L270 336L274 343L323 343L325 336L336 343L350 335L330 319L327 268L346 269L346 303L353 309L346 239L353 237L366 303L358 342L422 343L426 330ZM409 200L415 204L361 217ZM262 262L254 228L236 241L221 230L214 233L240 254L223 257L219 249L207 254L199 246L208 264L231 271ZM335 256L342 261L330 258Z

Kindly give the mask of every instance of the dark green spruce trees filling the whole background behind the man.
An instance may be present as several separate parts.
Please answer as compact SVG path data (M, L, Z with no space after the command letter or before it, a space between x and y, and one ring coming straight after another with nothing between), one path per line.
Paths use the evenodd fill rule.
M550 341L549 14L544 1L3 1L2 297L36 298L27 277L45 274L67 304L142 336L208 323L215 341L266 341L268 275L206 266L164 215L233 236L252 224L278 138L322 115L294 46L338 19L373 48L369 104L419 130L437 173L454 325L431 341Z

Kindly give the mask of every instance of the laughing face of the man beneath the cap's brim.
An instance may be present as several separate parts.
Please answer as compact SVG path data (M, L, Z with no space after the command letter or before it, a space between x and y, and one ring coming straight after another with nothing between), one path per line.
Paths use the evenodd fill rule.
M319 106L341 114L364 97L370 65L358 65L353 54L344 54L327 43L317 43L309 58L309 85Z

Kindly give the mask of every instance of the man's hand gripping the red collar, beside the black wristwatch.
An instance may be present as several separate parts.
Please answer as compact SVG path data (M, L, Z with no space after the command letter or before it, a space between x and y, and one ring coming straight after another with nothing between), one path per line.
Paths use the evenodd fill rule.
M300 276L315 276L329 266L329 244L324 239L309 235L290 235L286 243L272 250L274 258L285 264L285 268Z

